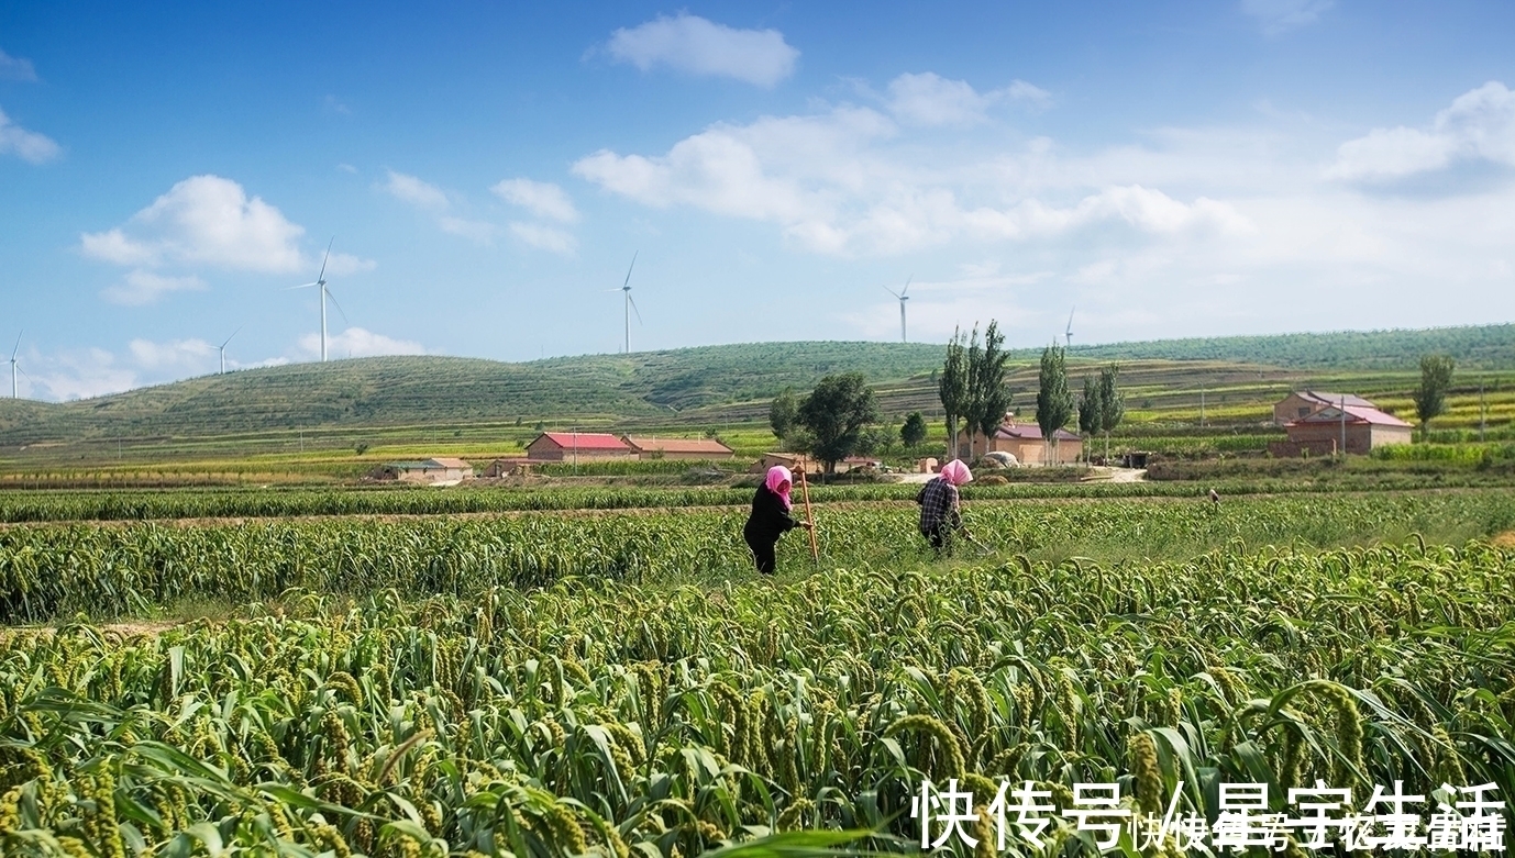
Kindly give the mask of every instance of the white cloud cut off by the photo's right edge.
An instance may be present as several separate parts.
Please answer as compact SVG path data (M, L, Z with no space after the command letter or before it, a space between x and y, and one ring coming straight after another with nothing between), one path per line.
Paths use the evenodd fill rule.
M1382 182L1471 160L1515 166L1515 92L1498 80L1459 95L1429 129L1374 129L1341 144L1326 176Z

